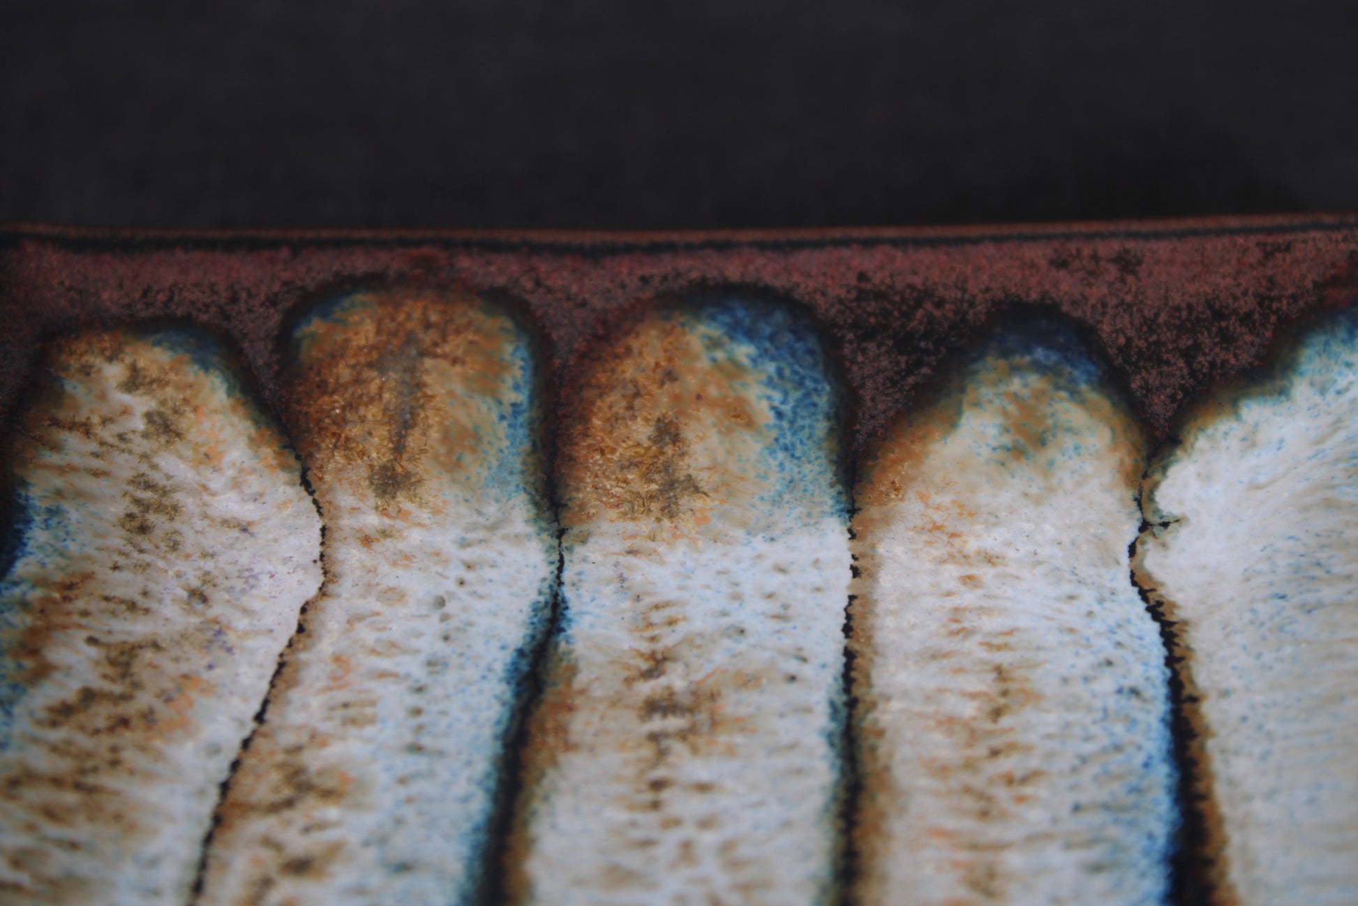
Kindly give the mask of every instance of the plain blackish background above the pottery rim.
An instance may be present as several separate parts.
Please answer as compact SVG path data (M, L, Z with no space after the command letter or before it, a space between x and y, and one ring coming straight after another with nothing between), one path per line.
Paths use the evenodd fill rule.
M0 0L0 219L1358 209L1358 4Z

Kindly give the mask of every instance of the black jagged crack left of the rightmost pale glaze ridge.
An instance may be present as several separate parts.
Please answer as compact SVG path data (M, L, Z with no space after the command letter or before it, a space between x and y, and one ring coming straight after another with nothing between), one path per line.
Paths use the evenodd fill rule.
M1146 481L1150 471L1141 475L1137 486L1137 509L1141 511L1142 496L1146 493ZM1215 902L1215 891L1211 879L1203 871L1203 848L1207 842L1207 816L1199 805L1200 777L1198 765L1191 755L1191 748L1198 729L1188 717L1188 698L1191 695L1188 683L1184 681L1191 667L1187 655L1181 648L1177 622L1165 613L1162 602L1154 599L1149 590L1142 587L1137 579L1137 546L1153 527L1164 528L1171 523L1150 523L1142 516L1137 537L1127 545L1127 575L1131 587L1141 596L1146 613L1156 621L1160 630L1160 642L1165 649L1165 668L1169 671L1169 739L1171 757L1173 758L1177 774L1175 784L1175 811L1179 815L1179 827L1175 829L1173 854L1169 858L1169 895L1168 903L1172 906L1206 906Z

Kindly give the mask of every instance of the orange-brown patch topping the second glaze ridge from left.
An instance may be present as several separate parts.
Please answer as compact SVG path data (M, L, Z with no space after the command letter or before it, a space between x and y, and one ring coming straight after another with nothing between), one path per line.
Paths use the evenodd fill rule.
M299 452L316 484L365 475L382 509L430 507L430 473L479 489L504 447L488 401L513 394L507 352L520 344L502 312L474 296L359 293L297 331L288 387Z

